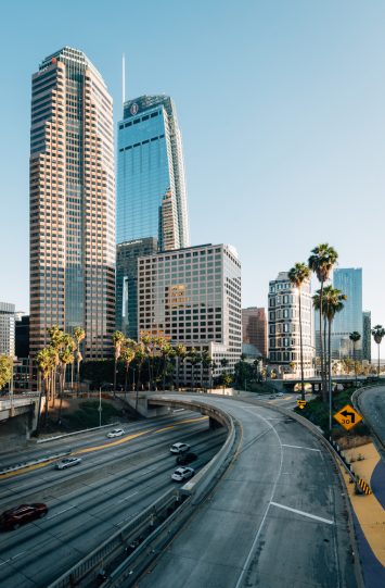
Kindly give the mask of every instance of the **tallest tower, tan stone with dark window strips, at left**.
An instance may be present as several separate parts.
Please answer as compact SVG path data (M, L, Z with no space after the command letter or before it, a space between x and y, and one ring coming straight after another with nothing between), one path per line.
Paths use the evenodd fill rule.
M64 47L33 75L30 351L59 325L86 330L84 355L111 352L115 327L113 102L81 51Z

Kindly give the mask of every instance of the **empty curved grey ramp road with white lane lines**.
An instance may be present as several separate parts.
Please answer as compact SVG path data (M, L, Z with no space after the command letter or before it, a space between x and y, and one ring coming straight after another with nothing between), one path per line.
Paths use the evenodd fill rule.
M240 453L138 586L356 588L345 489L323 446L273 408L207 401L242 423Z

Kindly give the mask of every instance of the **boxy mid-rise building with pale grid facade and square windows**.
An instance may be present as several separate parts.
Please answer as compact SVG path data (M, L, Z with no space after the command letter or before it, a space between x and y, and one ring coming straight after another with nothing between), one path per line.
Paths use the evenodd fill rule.
M203 245L139 259L139 335L150 333L207 351L214 375L233 371L242 353L241 263L233 248ZM192 381L181 366L180 380Z

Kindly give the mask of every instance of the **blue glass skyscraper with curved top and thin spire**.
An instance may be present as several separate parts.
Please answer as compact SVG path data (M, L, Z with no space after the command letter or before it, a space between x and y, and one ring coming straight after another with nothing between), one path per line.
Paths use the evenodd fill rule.
M161 251L190 245L182 140L168 96L125 102L118 124L117 242L146 237Z

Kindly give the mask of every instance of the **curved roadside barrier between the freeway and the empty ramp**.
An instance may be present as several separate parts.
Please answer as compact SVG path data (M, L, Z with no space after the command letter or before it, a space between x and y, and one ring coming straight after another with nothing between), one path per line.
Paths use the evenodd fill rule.
M163 403L175 402L168 399L162 400ZM115 565L116 560L119 559L121 561L117 562L118 565L105 578L103 586L118 587L121 583L125 583L125 587L131 586L191 516L196 504L217 484L234 458L240 424L224 411L206 403L179 400L178 404L180 403L194 404L197 410L202 408L206 414L226 424L229 435L218 454L192 480L182 486L180 491L176 492L172 489L163 495L48 588L91 585L97 579L103 579L104 576L100 574L102 568L104 570L112 561ZM132 546L134 546L133 549Z

